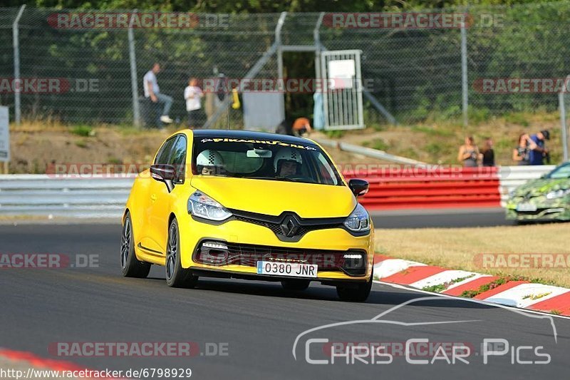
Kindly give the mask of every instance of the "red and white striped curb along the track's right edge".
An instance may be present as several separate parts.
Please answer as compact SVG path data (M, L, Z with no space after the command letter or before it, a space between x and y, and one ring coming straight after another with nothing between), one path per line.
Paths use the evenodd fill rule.
M570 289L527 281L502 281L498 276L446 269L421 262L375 255L373 279L440 294L481 299L511 307L570 316ZM484 291L482 291L482 287Z

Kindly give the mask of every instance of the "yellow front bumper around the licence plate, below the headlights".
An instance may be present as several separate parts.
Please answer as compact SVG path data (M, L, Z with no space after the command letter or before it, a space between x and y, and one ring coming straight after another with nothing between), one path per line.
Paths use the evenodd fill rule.
M257 274L257 260L279 260L317 264L317 277L305 279L321 282L368 280L372 274L373 229L366 236L353 236L341 228L315 230L307 232L299 242L283 242L269 228L240 220L210 225L184 215L178 221L182 267L192 270L281 281L286 278ZM231 252L222 254L221 260L208 262L200 255L203 242L223 242ZM364 255L366 268L358 273L343 270L341 256L356 252Z

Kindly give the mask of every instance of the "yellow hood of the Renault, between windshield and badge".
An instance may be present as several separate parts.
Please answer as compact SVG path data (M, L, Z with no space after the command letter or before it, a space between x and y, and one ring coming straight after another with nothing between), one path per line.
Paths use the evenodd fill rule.
M226 208L265 215L291 211L300 217L347 217L357 203L347 186L202 176L191 184Z

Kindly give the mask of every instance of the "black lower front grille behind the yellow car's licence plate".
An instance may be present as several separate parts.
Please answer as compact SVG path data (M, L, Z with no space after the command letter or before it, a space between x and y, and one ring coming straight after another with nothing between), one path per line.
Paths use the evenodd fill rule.
M202 264L244 265L256 267L258 261L296 262L317 265L318 271L346 272L351 275L366 273L366 254L359 250L304 250L299 248L271 247L266 245L245 245L232 242L218 242L227 250L208 249L200 245L194 254L194 261ZM361 265L355 267L353 260L344 258L347 253L363 255Z

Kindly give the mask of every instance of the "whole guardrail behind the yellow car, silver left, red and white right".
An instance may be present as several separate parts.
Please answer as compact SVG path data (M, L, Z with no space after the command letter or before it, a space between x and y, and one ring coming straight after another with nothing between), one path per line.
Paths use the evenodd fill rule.
M368 170L343 173L370 183L361 203L369 210L445 207L499 207L512 189L554 168L439 168ZM437 168L437 170L434 170ZM0 215L120 217L134 176L0 175Z

